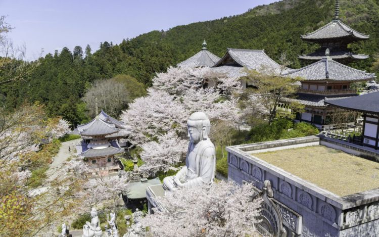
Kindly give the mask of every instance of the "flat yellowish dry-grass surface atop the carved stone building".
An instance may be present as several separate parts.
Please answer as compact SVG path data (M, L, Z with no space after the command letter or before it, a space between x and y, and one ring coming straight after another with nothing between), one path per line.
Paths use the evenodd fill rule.
M323 146L253 155L341 197L379 187L379 163Z

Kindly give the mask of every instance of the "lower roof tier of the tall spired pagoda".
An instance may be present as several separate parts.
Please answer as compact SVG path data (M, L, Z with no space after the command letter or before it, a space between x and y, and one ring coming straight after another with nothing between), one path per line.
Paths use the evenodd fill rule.
M336 61L343 60L343 59L364 60L364 59L369 58L368 55L353 54L348 51L330 51L329 57ZM318 61L318 60L321 60L322 58L325 58L325 50L320 50L308 55L299 56L299 59L312 60L312 61Z

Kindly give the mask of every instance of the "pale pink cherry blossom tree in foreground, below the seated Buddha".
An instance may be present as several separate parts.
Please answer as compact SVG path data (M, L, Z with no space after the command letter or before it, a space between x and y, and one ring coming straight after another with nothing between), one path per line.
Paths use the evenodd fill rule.
M164 210L155 209L141 223L154 236L250 236L260 214L261 199L255 195L249 183L183 188L157 198Z

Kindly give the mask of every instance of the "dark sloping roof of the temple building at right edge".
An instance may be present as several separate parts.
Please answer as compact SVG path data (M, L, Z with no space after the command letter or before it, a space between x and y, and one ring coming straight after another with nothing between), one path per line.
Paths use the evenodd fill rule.
M362 96L341 100L325 100L325 104L345 110L369 114L379 114L379 92L372 92L363 94Z

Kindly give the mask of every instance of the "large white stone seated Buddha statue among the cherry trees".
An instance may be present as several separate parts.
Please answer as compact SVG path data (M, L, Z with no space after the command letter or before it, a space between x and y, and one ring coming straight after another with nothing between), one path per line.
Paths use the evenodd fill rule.
M187 121L188 145L185 166L175 176L163 179L163 188L173 191L181 187L193 187L212 184L215 169L215 148L208 134L211 122L202 112L193 113Z

